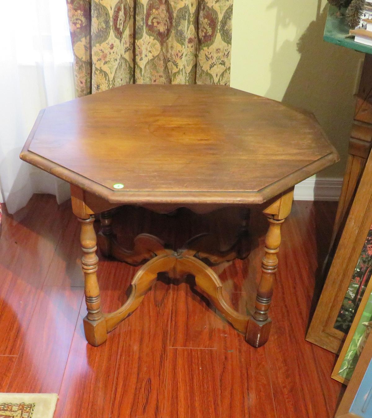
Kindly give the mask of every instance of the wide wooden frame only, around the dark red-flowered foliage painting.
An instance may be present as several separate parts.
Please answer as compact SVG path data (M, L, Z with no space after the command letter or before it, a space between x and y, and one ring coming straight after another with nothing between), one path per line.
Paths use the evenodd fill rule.
M369 155L306 340L339 354L346 334L334 328L372 225L372 154Z

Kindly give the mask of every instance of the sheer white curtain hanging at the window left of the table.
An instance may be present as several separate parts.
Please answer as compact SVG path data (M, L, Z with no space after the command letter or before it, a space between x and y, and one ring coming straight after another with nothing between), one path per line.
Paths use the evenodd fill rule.
M6 1L0 35L0 190L10 213L33 193L60 203L68 185L19 159L40 109L75 97L65 0Z

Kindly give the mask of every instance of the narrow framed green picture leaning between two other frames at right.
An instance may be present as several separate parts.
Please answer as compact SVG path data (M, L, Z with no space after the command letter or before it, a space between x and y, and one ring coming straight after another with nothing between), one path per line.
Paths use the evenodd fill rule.
M359 309L347 334L332 378L347 385L354 373L367 338L372 330L372 280L369 281Z

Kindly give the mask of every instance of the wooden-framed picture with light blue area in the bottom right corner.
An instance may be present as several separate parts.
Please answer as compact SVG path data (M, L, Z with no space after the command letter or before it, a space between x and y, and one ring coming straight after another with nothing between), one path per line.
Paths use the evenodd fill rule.
M372 416L372 336L369 335L334 418Z

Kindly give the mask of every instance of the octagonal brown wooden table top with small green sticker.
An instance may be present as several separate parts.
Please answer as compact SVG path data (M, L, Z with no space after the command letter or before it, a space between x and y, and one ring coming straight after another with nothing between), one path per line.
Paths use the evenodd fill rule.
M113 203L262 203L338 161L315 118L226 86L125 85L42 110L20 157Z

